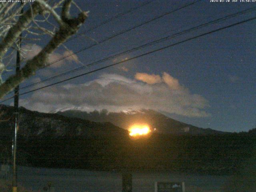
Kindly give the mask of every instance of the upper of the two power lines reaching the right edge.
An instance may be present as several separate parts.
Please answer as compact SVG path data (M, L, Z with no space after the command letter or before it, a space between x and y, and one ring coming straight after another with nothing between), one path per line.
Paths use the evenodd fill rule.
M201 25L199 25L199 26L189 28L189 29L184 30L184 31L182 31L182 32L178 32L178 33L175 33L175 34L166 36L166 37L164 37L164 38L160 38L160 39L154 40L154 41L152 41L152 42L149 42L149 43L146 43L146 44L144 44L144 45L141 45L141 46L132 48L132 49L130 49L130 50L126 50L126 51L121 52L121 53L119 53L119 54L115 54L115 55L109 56L109 57L107 57L107 58L98 60L98 61L96 61L96 62L92 62L92 63L90 63L90 64L88 64L88 65L86 65L86 66L82 66L82 67L79 67L79 68L75 68L75 69L73 69L73 70L69 70L69 71L66 71L66 72L64 72L64 73L58 74L58 75L56 75L56 76L52 76L52 77L50 77L50 78L41 80L41 81L39 81L39 82L36 82L36 83L30 84L30 85L24 86L24 87L22 87L22 88L20 88L20 89L24 89L24 88L28 88L28 87L31 87L31 86L34 86L34 85L37 85L37 84L41 84L41 83L46 82L46 81L48 81L48 80L52 80L52 79L55 79L55 78L58 78L58 77L67 75L67 74L70 74L70 73L72 73L72 72L76 72L76 71L78 71L78 70L82 70L82 69L84 69L84 68L86 68L86 67L88 67L88 66L92 66L92 65L95 65L95 64L98 64L98 63L102 63L102 62L104 62L104 61L106 61L106 60L110 60L110 59L115 58L115 57L117 57L117 56L120 56L120 55L123 55L123 54L126 54L126 53L130 53L130 52L132 52L132 51L135 51L135 50L138 50L138 49L141 49L141 48L145 48L146 46L151 46L151 45L153 45L153 44L156 44L156 43L159 43L159 42L163 42L163 41L169 40L169 39L171 39L171 38L175 38L176 36L179 36L179 35L182 35L182 34L191 32L191 31L193 31L193 30L200 29L200 28L205 27L205 26L208 26L208 25L210 25L210 24L215 24L215 23L217 23L217 22L221 22L221 21L227 20L227 19L229 19L229 18L238 16L238 15L240 15L240 14L245 14L245 13L251 12L251 11L253 11L253 10L256 10L256 7L249 8L249 9L246 9L246 10L243 10L243 11L240 11L240 12L236 12L236 13L234 13L234 14L230 14L230 15L228 15L228 16L224 16L224 17L222 17L222 18L218 18L218 19L216 19L216 20L213 20L213 21L210 21L210 22L201 24Z

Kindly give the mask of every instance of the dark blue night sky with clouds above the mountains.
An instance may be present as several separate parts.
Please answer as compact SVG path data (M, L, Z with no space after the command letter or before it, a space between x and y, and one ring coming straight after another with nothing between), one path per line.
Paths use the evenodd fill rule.
M82 10L89 10L89 18L78 33L83 33L105 20L127 12L147 1L135 0L76 0ZM83 35L75 36L65 45L72 52L137 26L143 22L176 10L193 1L153 0L132 12L101 25ZM29 85L108 56L130 50L153 40L166 37L252 8L256 2L210 2L202 0L144 24L111 40L74 54L20 85ZM78 10L73 7L72 14ZM256 16L256 11L193 30L169 40L84 67L66 76L21 89L20 93L58 82L72 76L108 66L121 60L234 24ZM20 96L20 106L40 112L65 108L93 111L139 110L150 108L202 128L241 132L256 127L256 20L245 22L212 34L129 60ZM45 38L44 38L45 39ZM46 40L34 42L28 58L38 52ZM51 56L52 62L68 55L64 47ZM79 62L78 62L79 60ZM10 74L6 73L5 77ZM9 94L5 98L12 96ZM4 102L13 104L13 100Z

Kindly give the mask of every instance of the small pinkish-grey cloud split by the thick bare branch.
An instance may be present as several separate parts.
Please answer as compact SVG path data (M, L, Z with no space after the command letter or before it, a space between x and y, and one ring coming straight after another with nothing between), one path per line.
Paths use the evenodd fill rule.
M24 53L23 53L24 60L29 60L29 59L32 59L34 56L36 56L42 50L42 47L37 44L33 44L33 45L25 45L23 49L24 49ZM69 56L70 54L72 54L72 56ZM58 68L60 66L63 66L67 61L78 62L78 56L74 54L72 51L65 51L63 53L54 52L50 54L50 56L48 57L48 63L50 64L53 63L50 66L52 68Z

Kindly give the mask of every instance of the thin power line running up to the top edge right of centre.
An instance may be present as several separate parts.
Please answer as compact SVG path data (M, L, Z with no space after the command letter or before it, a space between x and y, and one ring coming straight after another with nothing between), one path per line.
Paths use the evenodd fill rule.
M54 64L54 63L56 63L56 62L59 62L59 61L65 59L65 58L68 58L68 57L70 57L70 56L72 56L72 55L74 55L74 54L78 54L78 53L80 53L80 52L82 52L82 51L85 51L85 50L87 50L87 49L89 49L89 48L92 48L92 47L94 47L94 46L96 46L96 45L98 45L98 44L101 44L101 43L106 42L106 41L108 41L108 40L110 40L110 39L112 39L112 38L115 38L116 36L119 36L119 35L121 35L121 34L124 34L124 33L126 33L126 32L129 32L129 31L131 31L131 30L133 30L133 29L135 29L135 28L138 28L138 27L140 27L140 26L143 26L143 25L145 25L145 24L148 24L148 23L150 23L150 22L152 22L152 21L154 21L154 20L157 20L157 19L159 19L159 18L162 18L162 17L164 17L164 16L166 16L166 15L168 15L168 14L174 13L174 12L176 12L176 11L178 11L178 10L181 10L181 9L183 9L183 8L186 8L186 7L188 7L188 6L191 6L191 5L193 5L193 4L197 3L197 2L200 2L200 1L201 1L201 0L196 0L196 1L194 1L194 2L192 2L192 3L189 3L189 4L186 4L186 5L184 5L184 6L180 7L180 8L177 8L177 9L172 10L172 11L170 11L170 12L166 12L166 13L160 15L160 16L154 17L153 19L150 19L150 20L148 20L148 21L146 21L146 22L143 22L143 23L138 24L138 25L136 25L136 26L134 26L134 27L132 27L132 28L129 28L129 29L124 30L124 31L122 31L122 32L119 32L119 33L117 33L117 34L115 34L115 35L113 35L113 36L110 36L110 37L108 37L108 38L106 38L106 39L104 39L104 40L101 40L100 42L98 42L98 43L96 43L96 44L93 44L93 45L84 47L84 48L82 48L82 49L80 49L80 50L78 50L78 51L76 51L76 52L74 52L74 53L72 53L72 54L69 54L69 55L67 55L67 56L64 56L64 57L58 59L58 60L55 60L54 62L52 62L52 63L48 64L47 66L44 66L44 67L42 67L42 68L40 68L40 69L44 69L44 68L46 68L46 67L48 67L48 66L51 66L52 64ZM38 70L40 70L40 69L38 69Z

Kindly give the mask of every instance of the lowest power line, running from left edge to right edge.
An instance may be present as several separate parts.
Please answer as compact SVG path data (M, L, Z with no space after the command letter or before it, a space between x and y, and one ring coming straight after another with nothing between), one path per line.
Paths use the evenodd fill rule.
M226 28L230 28L230 27L233 27L233 26L242 24L242 23L246 23L246 22L249 22L249 21L252 21L252 20L255 20L255 19L256 19L256 17L253 17L253 18L250 18L250 19L247 19L247 20L243 20L243 21L240 21L240 22L237 22L237 23L234 23L234 24L231 24L231 25L222 27L222 28L218 28L218 29L216 29L216 30L212 30L212 31L210 31L210 32L206 32L206 33L200 34L200 35L198 35L198 36L194 36L194 37L192 37L192 38L188 38L188 39L186 39L186 40L182 40L182 41L180 41L180 42L177 42L177 43L174 43L174 44L170 44L170 45L168 45L168 46L164 46L164 47L162 47L162 48L159 48L159 49L156 49L156 50L153 50L153 51L150 51L150 52L146 52L146 53L144 53L144 54L140 54L140 55L138 55L138 56L135 56L135 57L133 57L133 58L130 58L130 59L127 59L127 60L124 60L124 61L120 61L120 62L111 64L111 65L108 65L108 66L104 66L104 67L102 67L102 68L98 68L98 69L96 69L96 70L92 70L92 71L90 71L90 72L86 72L86 73L84 73L84 74L80 74L80 75L77 75L77 76L74 76L74 77L71 77L71 78L67 78L67 79L65 79L65 80L61 80L61 81L56 82L56 83L52 83L52 84L49 84L49 85L46 85L46 86L43 86L43 87L40 87L40 88L37 88L37 89L34 89L34 90L30 90L30 91L28 91L28 92L24 92L24 93L22 93L22 94L19 94L19 96L24 95L24 94L28 94L28 93L31 93L31 92L34 92L34 91L37 91L37 90L40 90L40 89L43 89L43 88L46 88L46 87L50 87L50 86L53 86L53 85L56 85L56 84L59 84L59 83L62 83L62 82L68 81L68 80L72 80L72 79L74 79L74 78L78 78L78 77L81 77L81 76L84 76L84 75L87 75L87 74L90 74L90 73L94 73L94 72L97 72L97 71L100 71L100 70L103 70L103 69L106 69L106 68L109 68L109 67L112 67L112 66L115 66L115 65L118 65L118 64L121 64L121 63L130 61L130 60L134 60L134 59L136 59L136 58L140 58L140 57L142 57L142 56L146 56L146 55L148 55L148 54L152 54L152 53L154 53L154 52L158 52L158 51L164 50L164 49L166 49L166 48L170 48L170 47L172 47L172 46L176 46L176 45L178 45L178 44L182 44L182 43L184 43L184 42L187 42L187 41L190 41L190 40L193 40L193 39L196 39L196 38L199 38L199 37L208 35L208 34L212 34L212 33L214 33L214 32L218 32L218 31L220 31L220 30L224 30L224 29L226 29ZM5 100L3 100L3 101L1 101L0 103L5 102L5 101L7 101L7 100L9 100L9 99L11 99L11 98L14 98L14 96L12 96L12 97L10 97L10 98L7 98L7 99L5 99Z

